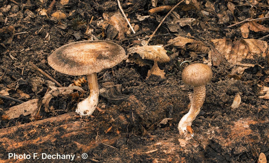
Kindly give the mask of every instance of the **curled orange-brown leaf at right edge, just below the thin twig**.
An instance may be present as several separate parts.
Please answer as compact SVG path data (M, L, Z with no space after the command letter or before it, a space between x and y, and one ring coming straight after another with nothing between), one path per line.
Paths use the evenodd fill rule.
M248 21L240 27L241 34L243 38L247 38L249 34L249 30L252 30L254 32L268 32L269 28L258 24L256 21Z

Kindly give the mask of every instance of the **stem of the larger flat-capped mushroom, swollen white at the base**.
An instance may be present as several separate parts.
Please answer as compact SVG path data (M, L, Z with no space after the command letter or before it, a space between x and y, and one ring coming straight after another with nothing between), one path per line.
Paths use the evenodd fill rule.
M99 88L97 83L97 74L87 75L88 86L90 89L89 97L82 100L77 104L76 113L82 116L91 115L95 108L97 107L98 97L99 97Z

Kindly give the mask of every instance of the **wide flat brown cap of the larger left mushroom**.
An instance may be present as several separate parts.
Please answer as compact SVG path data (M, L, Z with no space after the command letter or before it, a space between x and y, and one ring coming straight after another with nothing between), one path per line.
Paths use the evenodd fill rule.
M63 74L88 75L111 68L126 58L125 50L110 41L78 41L56 49L48 64Z

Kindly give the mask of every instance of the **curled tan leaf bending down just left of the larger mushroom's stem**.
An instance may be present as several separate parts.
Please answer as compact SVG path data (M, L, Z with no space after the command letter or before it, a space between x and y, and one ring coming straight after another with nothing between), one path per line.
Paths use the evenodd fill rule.
M80 88L78 86L69 86L69 87L49 86L47 92L45 93L44 97L42 98L42 104L44 104L44 106L45 106L45 111L49 112L49 103L53 97L57 97L60 95L69 95L74 90L85 92L82 88Z

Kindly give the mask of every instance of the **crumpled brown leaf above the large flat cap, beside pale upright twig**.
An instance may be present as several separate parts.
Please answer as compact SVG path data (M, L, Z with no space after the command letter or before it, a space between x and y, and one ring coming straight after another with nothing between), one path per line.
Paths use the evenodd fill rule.
M111 13L103 13L103 18L105 21L108 21L108 23L117 30L117 36L116 38L119 40L122 40L125 38L124 34L128 30L128 23L123 18L120 11L117 12L111 12Z

